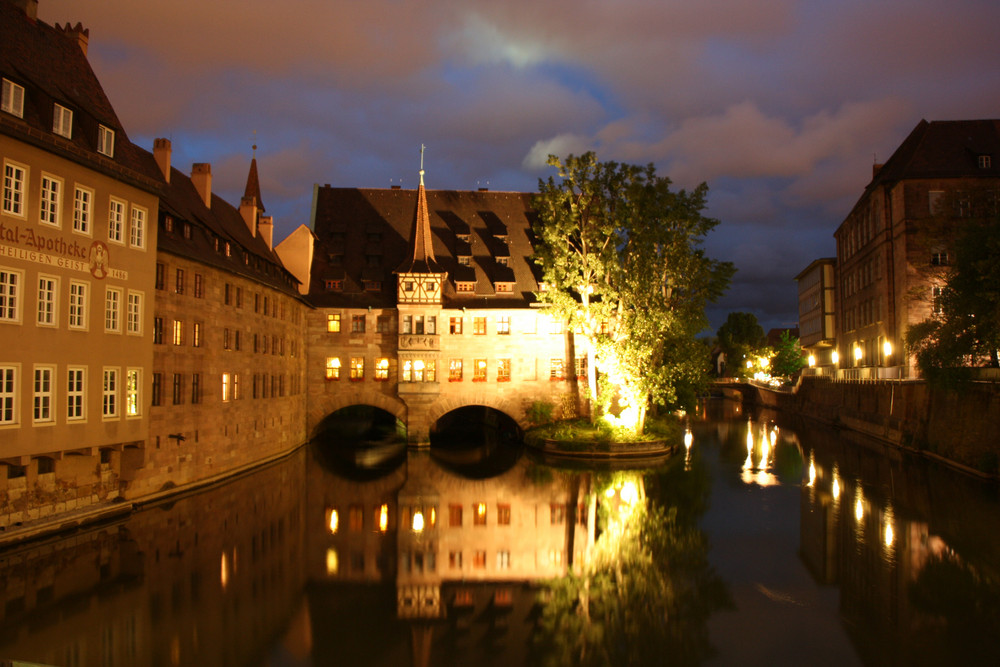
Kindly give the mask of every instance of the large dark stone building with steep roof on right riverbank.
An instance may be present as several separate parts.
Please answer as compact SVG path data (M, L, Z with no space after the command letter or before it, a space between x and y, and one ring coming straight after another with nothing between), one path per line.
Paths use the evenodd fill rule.
M849 377L915 373L907 329L931 315L949 261L935 224L960 225L966 194L1000 188L1000 121L920 121L837 228L837 351Z

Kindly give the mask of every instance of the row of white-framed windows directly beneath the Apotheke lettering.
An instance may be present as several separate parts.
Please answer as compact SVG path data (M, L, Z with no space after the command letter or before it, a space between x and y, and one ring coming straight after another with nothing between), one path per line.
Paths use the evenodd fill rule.
M35 288L35 324L40 327L59 326L60 300L66 299L66 325L70 329L90 328L91 285L86 280L70 280L69 291L62 293L61 278L39 274ZM0 266L0 322L22 322L24 302L24 272ZM121 287L104 289L104 331L142 335L142 314L145 294ZM124 316L123 316L124 315Z

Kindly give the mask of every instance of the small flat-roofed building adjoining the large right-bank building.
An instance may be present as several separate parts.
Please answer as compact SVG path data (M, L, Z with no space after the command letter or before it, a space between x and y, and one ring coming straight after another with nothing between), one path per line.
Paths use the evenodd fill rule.
M813 261L795 280L799 286L799 343L808 355L812 372L832 372L837 367L836 268L834 257ZM809 372L809 371L806 371Z

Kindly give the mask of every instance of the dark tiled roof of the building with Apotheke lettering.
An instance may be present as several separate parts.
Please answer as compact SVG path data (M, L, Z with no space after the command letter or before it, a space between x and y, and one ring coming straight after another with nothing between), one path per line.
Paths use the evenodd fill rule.
M0 2L0 76L23 86L24 114L0 112L0 133L38 145L148 191L162 182L156 164L134 146L80 48L76 32L29 19ZM73 112L72 138L52 132L53 104ZM97 152L97 126L114 130L112 158Z

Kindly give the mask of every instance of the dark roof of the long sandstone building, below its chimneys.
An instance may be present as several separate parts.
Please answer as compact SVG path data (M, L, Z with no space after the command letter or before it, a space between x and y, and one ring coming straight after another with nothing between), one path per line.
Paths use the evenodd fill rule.
M166 216L173 218L173 230L169 232L162 222ZM211 208L205 206L191 178L178 169L171 169L170 184L164 186L160 220L158 250L298 295L298 281L285 270L264 239L250 233L239 209L216 194L212 195ZM187 234L185 224L190 225Z

